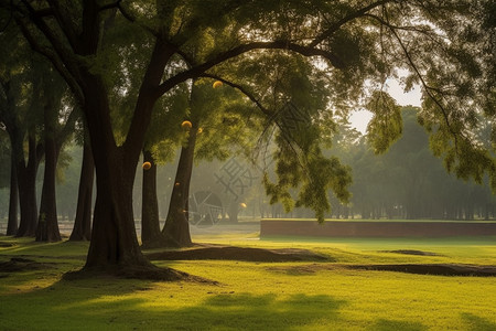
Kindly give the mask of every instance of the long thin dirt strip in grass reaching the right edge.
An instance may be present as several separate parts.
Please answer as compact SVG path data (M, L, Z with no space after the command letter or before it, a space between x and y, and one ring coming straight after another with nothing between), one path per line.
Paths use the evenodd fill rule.
M303 266L277 266L267 268L270 271L288 275L311 275L319 270L359 269L376 271L397 271L433 276L475 276L495 277L496 266L475 266L459 264L399 264L399 265L343 265L343 264L312 264Z

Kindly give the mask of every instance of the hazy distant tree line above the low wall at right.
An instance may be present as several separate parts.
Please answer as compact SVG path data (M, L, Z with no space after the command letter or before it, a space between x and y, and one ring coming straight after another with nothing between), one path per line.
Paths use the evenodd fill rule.
M344 125L336 152L353 169L351 204L333 200L334 217L494 220L496 199L488 179L476 184L446 173L429 149L417 109L405 107L403 135L377 156L365 137ZM355 140L354 140L355 139Z

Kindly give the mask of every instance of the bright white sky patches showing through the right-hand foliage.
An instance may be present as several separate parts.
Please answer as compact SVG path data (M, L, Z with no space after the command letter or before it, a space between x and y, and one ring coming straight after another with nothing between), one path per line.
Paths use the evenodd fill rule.
M397 103L401 106L418 106L421 104L421 94L420 86L416 86L409 93L405 93L403 88L400 86L397 79L388 79L387 81L388 93L397 100ZM349 120L352 125L362 134L365 134L367 129L367 124L371 118L371 114L367 110L358 110L354 111Z

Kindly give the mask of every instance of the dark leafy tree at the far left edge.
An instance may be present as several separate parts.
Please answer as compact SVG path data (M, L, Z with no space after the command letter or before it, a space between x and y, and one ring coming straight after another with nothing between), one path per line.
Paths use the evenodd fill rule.
M0 38L13 52L2 50L0 85L2 104L1 120L9 134L11 143L11 194L9 209L9 234L33 236L36 228L36 186L37 167L43 157L43 146L37 142L41 103L41 74L34 70L36 57L26 53L26 45L19 40L19 32L9 29ZM24 142L28 140L28 148ZM26 151L26 156L25 156ZM26 159L28 157L28 159ZM15 188L15 185L18 188ZM18 193L21 221L17 228Z

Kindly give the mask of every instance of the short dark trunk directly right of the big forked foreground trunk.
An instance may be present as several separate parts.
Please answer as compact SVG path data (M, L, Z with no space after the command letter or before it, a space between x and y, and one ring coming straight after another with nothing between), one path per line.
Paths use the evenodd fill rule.
M157 199L157 166L150 150L143 149L143 161L150 162L150 169L143 169L141 199L141 243L143 247L160 246L159 201Z

